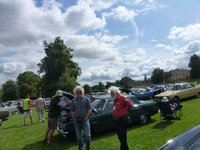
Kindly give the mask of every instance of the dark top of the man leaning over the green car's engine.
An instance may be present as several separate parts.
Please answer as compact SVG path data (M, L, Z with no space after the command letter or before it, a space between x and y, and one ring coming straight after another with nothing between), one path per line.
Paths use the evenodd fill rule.
M52 98L49 106L49 113L48 113L49 118L57 119L58 116L60 115L60 106L58 106L59 102L60 102L60 97L54 96Z

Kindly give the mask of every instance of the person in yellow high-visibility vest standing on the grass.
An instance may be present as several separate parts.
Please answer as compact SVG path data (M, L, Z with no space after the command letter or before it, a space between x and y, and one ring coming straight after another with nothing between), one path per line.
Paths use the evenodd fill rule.
M24 125L26 125L27 116L30 117L31 123L33 123L31 100L29 95L23 100L23 110L24 110Z

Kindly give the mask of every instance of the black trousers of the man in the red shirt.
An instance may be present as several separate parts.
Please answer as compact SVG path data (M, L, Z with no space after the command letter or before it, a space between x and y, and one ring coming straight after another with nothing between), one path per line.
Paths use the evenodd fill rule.
M127 144L127 128L129 125L129 118L122 117L119 120L115 120L117 127L117 136L121 143L120 150L129 150Z

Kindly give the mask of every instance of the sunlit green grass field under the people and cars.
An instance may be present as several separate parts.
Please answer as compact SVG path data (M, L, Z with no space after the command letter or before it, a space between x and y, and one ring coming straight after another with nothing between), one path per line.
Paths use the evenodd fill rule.
M200 99L190 99L181 102L183 105L182 120L174 123L162 120L159 114L152 117L147 125L135 125L128 129L128 144L130 150L156 150L169 139L179 135L185 130L200 123ZM39 124L35 109L33 109L34 123L27 120L27 126L23 125L23 115L17 114L3 121L0 127L0 150L77 150L77 143L70 137L62 138L55 131L54 145L47 146L42 143L47 121ZM92 150L116 150L119 149L119 141L115 132L92 138Z

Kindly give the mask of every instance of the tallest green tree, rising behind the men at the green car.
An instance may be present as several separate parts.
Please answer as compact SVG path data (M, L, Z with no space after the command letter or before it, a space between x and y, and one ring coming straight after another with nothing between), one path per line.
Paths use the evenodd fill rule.
M77 85L81 69L72 60L73 49L68 48L60 37L54 42L43 42L46 56L38 64L39 73L43 73L42 90L45 96L52 96L58 89L72 92Z

